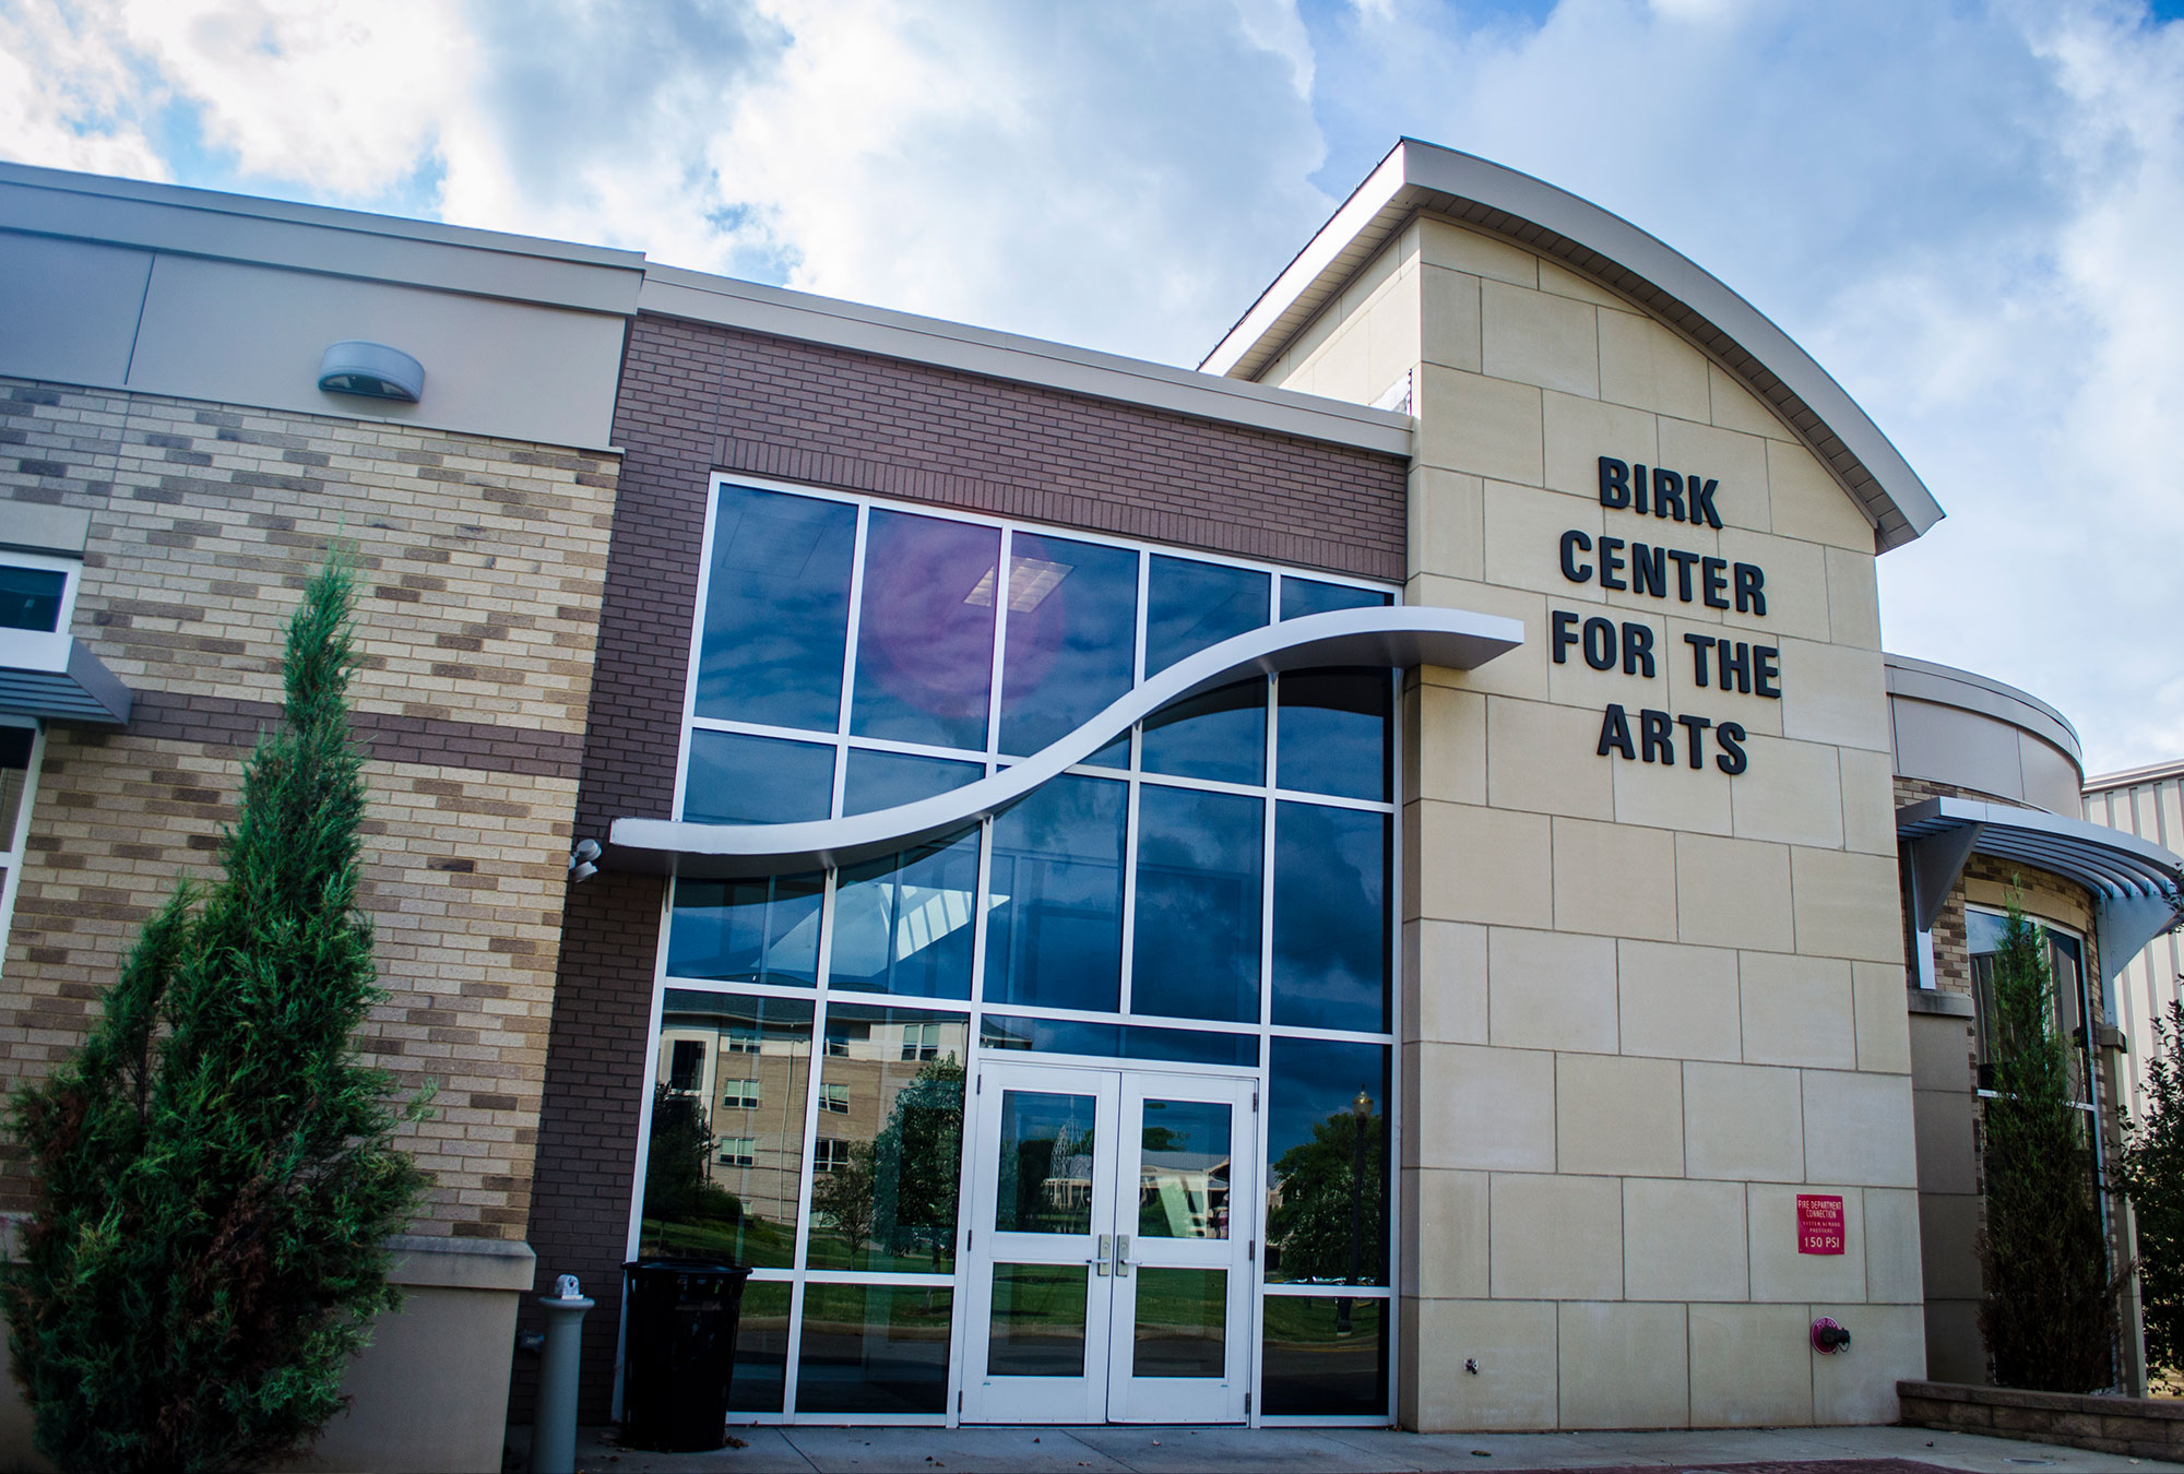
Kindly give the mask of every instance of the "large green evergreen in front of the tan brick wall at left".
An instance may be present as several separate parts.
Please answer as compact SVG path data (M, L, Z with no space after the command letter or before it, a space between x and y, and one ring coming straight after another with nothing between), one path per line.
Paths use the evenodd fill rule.
M35 1210L4 1301L63 1470L308 1448L424 1184L354 1033L384 994L356 908L363 762L343 559L288 625L286 723L242 769L225 876L146 924L83 1048L15 1098Z

